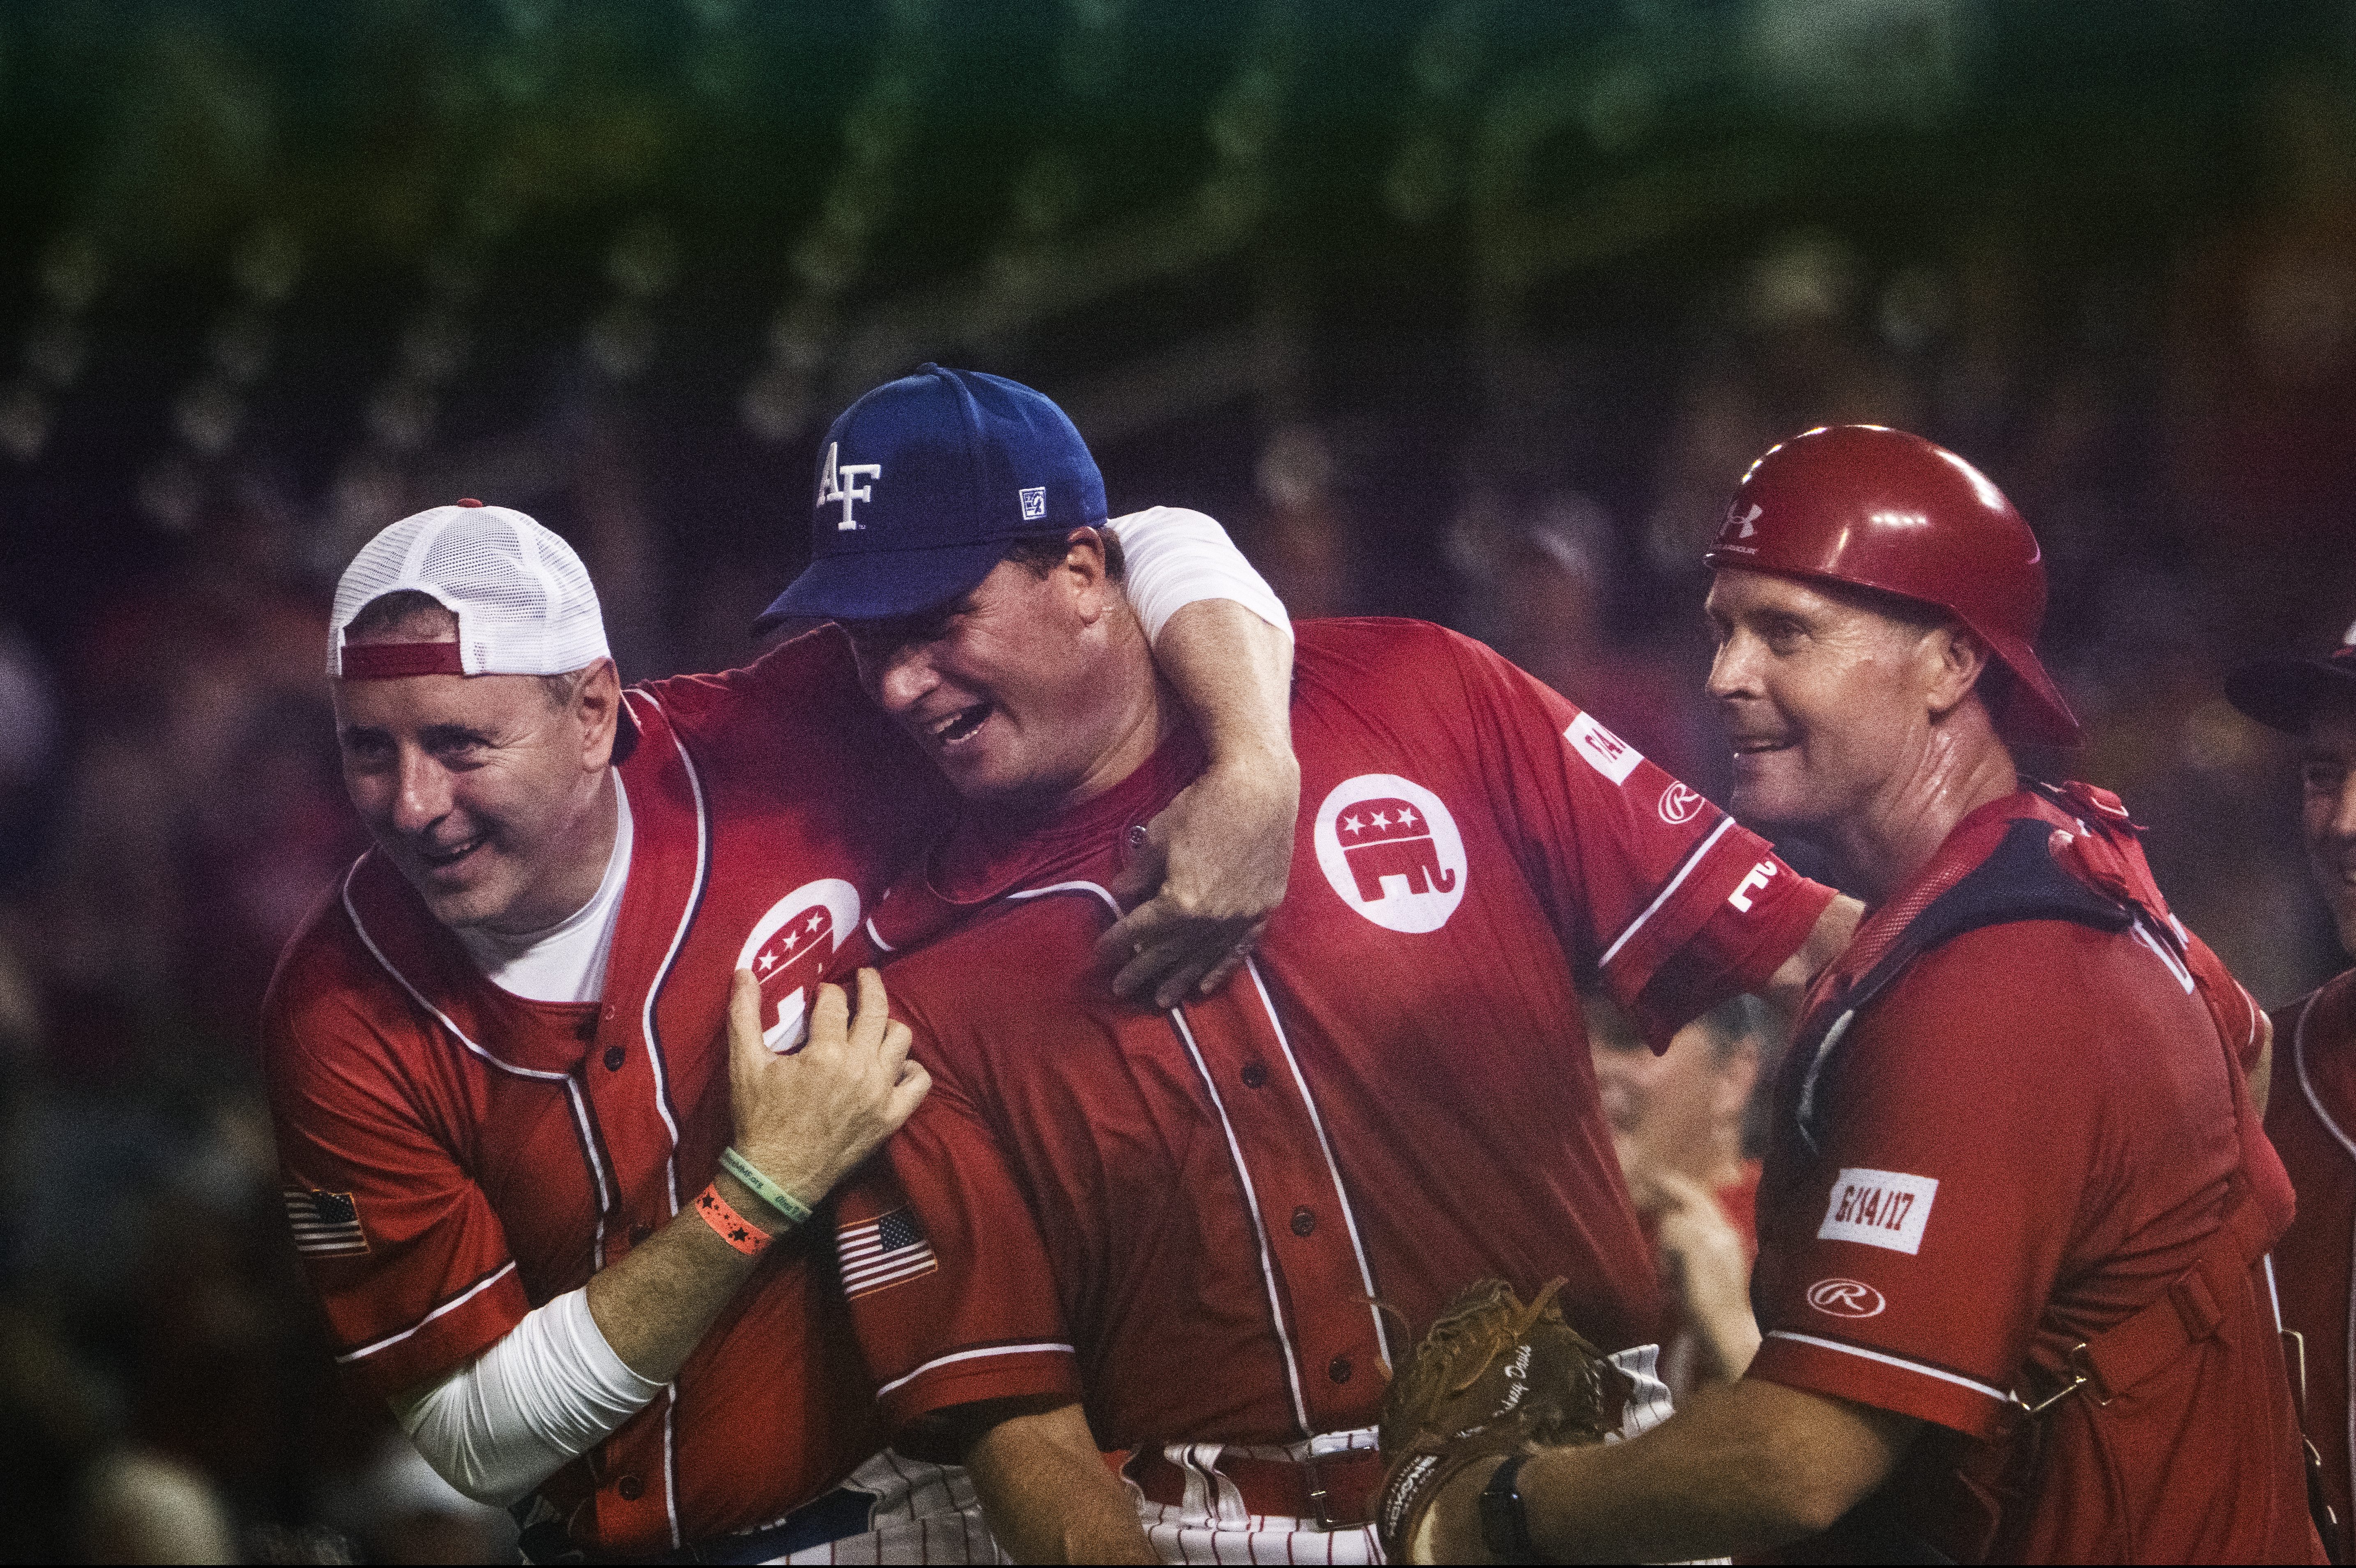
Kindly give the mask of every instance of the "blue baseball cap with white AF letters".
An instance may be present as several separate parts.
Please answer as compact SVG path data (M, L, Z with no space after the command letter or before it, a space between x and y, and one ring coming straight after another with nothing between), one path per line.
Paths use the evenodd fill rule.
M990 577L1013 539L1103 523L1105 476L1060 407L1006 377L919 365L827 428L810 565L754 626L916 614Z

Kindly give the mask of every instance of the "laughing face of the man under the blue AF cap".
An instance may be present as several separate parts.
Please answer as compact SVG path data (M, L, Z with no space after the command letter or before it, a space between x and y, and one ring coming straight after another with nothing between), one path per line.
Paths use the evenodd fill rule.
M1152 753L1152 659L1081 532L1044 577L1001 560L938 610L848 626L867 695L968 800L1051 812Z

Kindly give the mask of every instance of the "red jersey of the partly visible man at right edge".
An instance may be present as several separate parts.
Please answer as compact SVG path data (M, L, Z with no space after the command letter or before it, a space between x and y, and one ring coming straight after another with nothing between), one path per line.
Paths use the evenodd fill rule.
M2356 1241L2356 970L2274 1015L2274 1088L2266 1137L2283 1156L2299 1212L2274 1243L2283 1326L2304 1349L2307 1439L2323 1460L2323 1490L2340 1519L2340 1561L2356 1549L2349 1455L2356 1403L2349 1361L2356 1302L2349 1297Z

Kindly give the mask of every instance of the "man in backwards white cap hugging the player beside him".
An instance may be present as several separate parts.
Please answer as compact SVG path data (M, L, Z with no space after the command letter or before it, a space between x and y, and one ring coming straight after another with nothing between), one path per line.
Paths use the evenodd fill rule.
M1216 534L1143 523L1178 567L1171 527ZM1209 582L1272 607L1232 551ZM1282 671L1286 633L1232 603L1173 622L1180 687L1263 709L1206 723L1270 735L1237 671ZM867 958L865 906L938 810L841 636L624 692L573 551L478 504L370 542L332 626L377 848L290 944L264 1064L342 1361L436 1469L516 1502L535 1559L987 1556L957 1471L879 1455L799 1229L926 1088L874 972L855 1012L822 984ZM1242 760L1289 808L1289 756ZM1249 793L1173 862L1265 859ZM1211 897L1147 930L1176 937L1164 970L1204 946L1190 925L1249 930L1249 897Z

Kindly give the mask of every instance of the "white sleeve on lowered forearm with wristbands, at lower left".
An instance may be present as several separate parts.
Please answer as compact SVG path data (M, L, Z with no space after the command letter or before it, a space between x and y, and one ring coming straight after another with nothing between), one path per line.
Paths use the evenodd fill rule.
M605 1344L589 1290L573 1290L417 1398L396 1398L393 1415L436 1476L507 1507L660 1391Z

